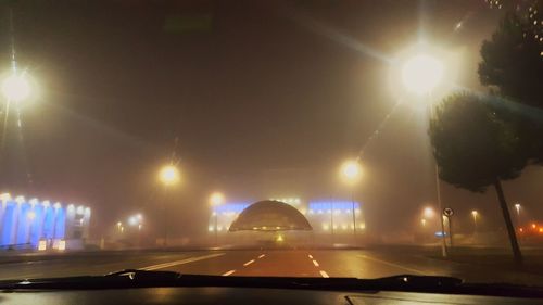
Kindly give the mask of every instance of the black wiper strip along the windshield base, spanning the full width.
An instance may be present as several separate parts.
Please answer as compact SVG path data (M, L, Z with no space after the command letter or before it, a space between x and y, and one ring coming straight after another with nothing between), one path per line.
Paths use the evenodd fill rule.
M305 289L328 291L401 291L473 295L543 297L543 289L510 284L464 283L453 277L400 275L378 279L293 278L293 277L223 277L181 275L173 271L126 269L105 276L27 279L0 281L0 290L27 289L91 290L155 287L228 287Z

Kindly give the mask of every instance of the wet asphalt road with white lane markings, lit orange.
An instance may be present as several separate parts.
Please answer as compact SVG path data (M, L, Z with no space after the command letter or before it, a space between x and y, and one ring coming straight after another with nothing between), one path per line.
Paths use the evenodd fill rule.
M543 270L450 262L399 250L125 251L15 258L18 262L0 260L0 280L104 275L136 268L220 276L378 278L440 275L472 282L543 285Z

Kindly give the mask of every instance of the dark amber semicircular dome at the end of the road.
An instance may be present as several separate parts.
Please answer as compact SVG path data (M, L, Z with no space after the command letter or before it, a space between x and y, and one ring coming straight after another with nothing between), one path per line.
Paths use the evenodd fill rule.
M312 230L310 223L295 207L279 201L258 201L233 220L230 231Z

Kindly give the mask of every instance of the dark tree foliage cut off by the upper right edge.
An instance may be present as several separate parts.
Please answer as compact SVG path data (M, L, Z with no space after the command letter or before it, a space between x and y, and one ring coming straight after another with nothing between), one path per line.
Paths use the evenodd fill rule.
M479 78L510 101L504 118L518 125L519 139L530 158L543 164L543 1L531 1L526 8L506 5L507 12L496 31L481 47Z

